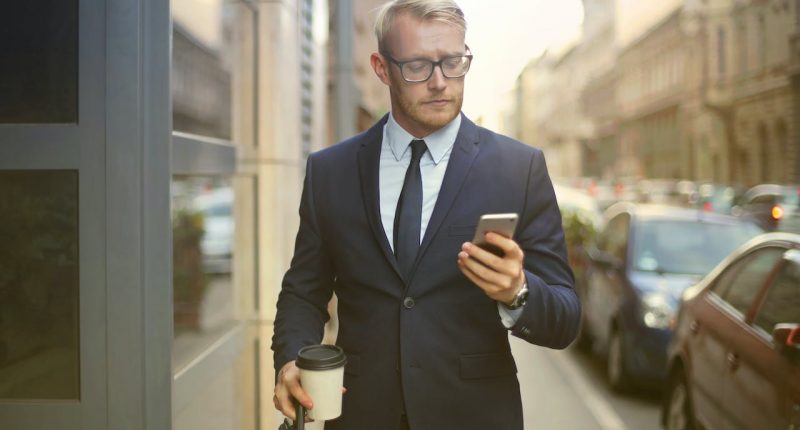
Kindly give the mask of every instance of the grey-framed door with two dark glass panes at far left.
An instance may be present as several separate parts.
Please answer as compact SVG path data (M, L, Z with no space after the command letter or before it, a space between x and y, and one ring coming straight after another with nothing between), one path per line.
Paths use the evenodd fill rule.
M104 10L0 14L3 428L106 427Z

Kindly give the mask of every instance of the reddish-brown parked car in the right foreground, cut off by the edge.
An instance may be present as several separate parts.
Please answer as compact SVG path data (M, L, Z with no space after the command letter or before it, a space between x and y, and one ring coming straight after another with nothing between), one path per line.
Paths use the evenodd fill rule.
M683 295L667 429L800 425L800 235L759 236Z

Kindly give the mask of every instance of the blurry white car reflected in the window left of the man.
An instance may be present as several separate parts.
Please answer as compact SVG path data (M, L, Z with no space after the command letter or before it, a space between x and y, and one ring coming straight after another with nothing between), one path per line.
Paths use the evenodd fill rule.
M203 215L203 270L206 273L231 272L233 258L233 189L218 188L198 195L194 207Z

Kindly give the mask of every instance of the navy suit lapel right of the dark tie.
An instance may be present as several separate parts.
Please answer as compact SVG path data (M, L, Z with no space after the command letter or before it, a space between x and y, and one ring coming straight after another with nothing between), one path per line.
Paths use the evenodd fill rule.
M439 190L439 197L436 199L436 205L433 207L431 219L425 229L425 237L422 239L417 258L414 261L414 268L411 271L412 277L433 237L436 236L442 226L442 222L453 207L456 196L458 196L462 185L464 185L464 180L467 178L467 174L477 155L478 127L466 115L462 114L461 128L458 130L456 141L453 144L453 151L450 153L450 161L447 163L447 170L442 180L442 187Z

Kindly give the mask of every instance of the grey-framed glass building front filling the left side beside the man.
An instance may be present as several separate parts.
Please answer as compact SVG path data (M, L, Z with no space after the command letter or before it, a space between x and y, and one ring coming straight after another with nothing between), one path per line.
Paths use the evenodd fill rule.
M0 426L277 428L271 327L327 141L327 3L9 8Z

